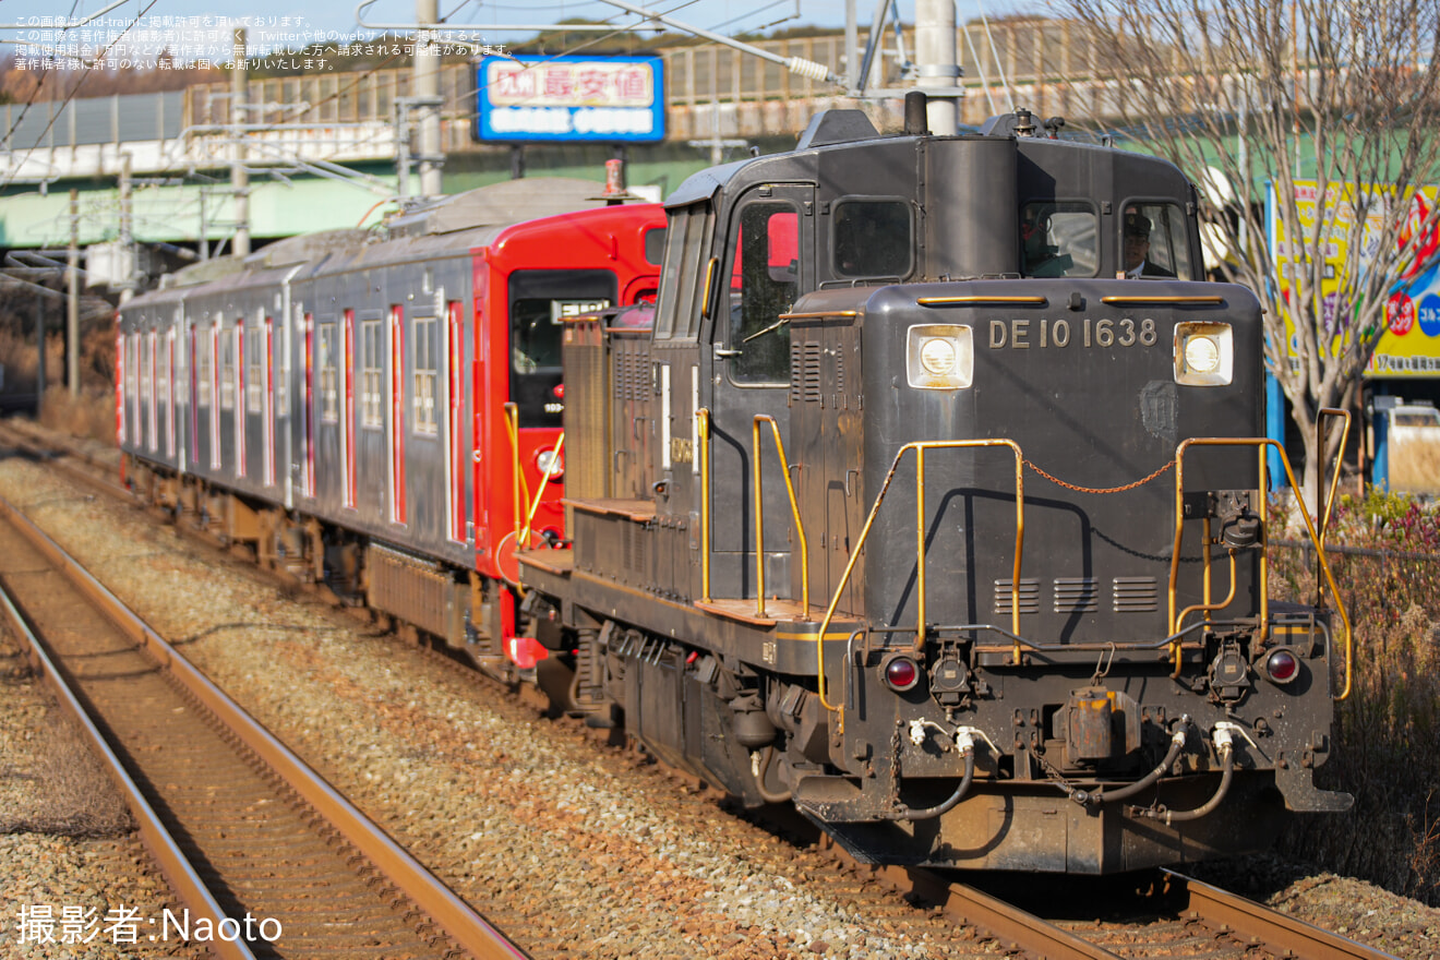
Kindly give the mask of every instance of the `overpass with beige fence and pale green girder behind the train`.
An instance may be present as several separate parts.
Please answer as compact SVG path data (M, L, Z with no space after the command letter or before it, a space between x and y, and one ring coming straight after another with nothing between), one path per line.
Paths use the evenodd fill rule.
M842 35L762 40L780 56L847 69ZM1090 53L1080 30L1061 20L1007 20L956 30L965 96L962 122L976 125L1011 104L1037 115L1106 117L1123 91L1087 79ZM871 71L871 88L897 89L913 35L891 36ZM766 60L717 45L660 50L667 69L665 142L631 147L632 186L667 193L713 154L736 144L779 150L827 107L861 105L881 128L900 125L900 99L854 101L834 88ZM855 50L858 58L861 50ZM68 191L81 191L79 242L120 235L120 177L128 155L137 240L209 250L233 232L229 168L251 170L249 220L258 240L307 230L370 223L399 193L396 104L410 94L409 68L346 72L344 58L302 76L255 79L248 102L258 115L236 135L226 127L229 85L171 94L36 102L0 107L0 249L65 246L71 235ZM471 138L475 71L442 68L445 193L511 176L507 147ZM253 109L253 108L252 108ZM603 178L605 148L528 148L531 176L556 173ZM412 177L406 187L415 193Z

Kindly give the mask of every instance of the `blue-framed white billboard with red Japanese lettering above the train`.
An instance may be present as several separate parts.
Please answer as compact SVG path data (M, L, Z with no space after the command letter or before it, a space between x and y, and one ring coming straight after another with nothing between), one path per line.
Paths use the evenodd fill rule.
M658 56L487 56L477 66L475 138L635 142L665 138Z

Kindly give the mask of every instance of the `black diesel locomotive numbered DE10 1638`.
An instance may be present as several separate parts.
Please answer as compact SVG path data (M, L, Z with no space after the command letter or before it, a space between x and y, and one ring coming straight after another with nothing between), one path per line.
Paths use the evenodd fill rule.
M1345 809L1349 628L1266 596L1260 308L1201 282L1194 187L907 108L691 177L652 318L566 324L572 544L518 561L572 707L865 861L1106 874Z

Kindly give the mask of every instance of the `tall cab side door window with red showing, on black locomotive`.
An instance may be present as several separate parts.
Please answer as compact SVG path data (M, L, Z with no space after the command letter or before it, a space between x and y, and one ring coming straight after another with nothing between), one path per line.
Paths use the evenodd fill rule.
M730 262L730 363L736 383L788 383L791 328L779 317L799 295L799 212L783 200L740 210ZM723 275L721 275L723 276Z

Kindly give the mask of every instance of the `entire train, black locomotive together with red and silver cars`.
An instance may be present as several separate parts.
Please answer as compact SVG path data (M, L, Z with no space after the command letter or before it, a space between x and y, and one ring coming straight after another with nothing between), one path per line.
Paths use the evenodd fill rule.
M1194 187L923 118L825 112L664 222L523 181L140 296L135 486L861 859L1106 874L1344 809L1349 626L1267 597L1260 308Z

